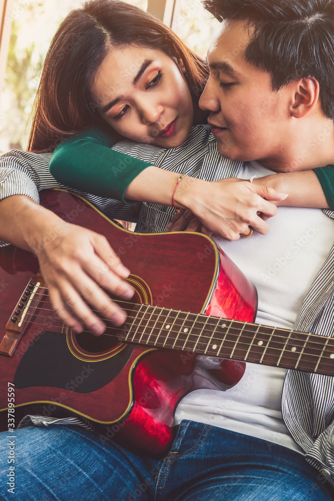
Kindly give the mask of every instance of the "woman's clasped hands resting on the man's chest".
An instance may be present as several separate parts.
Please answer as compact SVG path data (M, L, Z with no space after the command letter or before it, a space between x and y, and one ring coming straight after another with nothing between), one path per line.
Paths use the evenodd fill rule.
M270 187L257 186L242 179L221 179L207 183L204 193L189 200L191 210L176 214L167 229L203 231L208 235L215 233L227 240L238 240L240 234L248 234L249 226L266 234L269 225L261 215L274 216L277 208L271 201L284 200L286 196Z

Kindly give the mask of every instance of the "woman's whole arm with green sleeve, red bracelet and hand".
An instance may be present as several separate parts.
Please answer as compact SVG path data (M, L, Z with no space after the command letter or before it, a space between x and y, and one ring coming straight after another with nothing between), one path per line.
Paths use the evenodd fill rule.
M89 193L171 205L178 175L111 150L115 141L109 131L85 129L57 147L50 170L62 183ZM273 190L246 182L236 186L190 177L183 178L174 195L177 207L190 209L229 240L239 238L249 225L267 233L269 226L257 212L274 215L276 208L267 200L280 199Z

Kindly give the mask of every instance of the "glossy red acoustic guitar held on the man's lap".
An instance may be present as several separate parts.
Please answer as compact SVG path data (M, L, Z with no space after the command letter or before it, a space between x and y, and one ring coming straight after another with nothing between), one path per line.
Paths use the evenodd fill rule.
M76 335L53 312L36 257L2 247L2 430L26 415L72 417L102 440L161 457L181 398L233 386L245 362L333 375L333 339L252 323L254 286L207 236L133 233L64 190L41 192L41 202L108 238L135 297L117 300L128 313L120 328Z

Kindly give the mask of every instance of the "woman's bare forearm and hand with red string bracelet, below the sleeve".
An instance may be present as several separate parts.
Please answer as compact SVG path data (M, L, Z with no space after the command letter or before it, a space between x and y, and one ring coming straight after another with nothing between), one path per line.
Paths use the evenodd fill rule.
M126 197L171 205L177 178L175 172L148 167L130 183ZM281 200L285 196L249 181L235 183L234 179L222 179L208 182L186 176L175 190L174 204L195 214L211 233L237 240L240 233L249 232L248 226L266 234L269 225L258 216L258 212L268 217L275 215L277 208L268 200Z

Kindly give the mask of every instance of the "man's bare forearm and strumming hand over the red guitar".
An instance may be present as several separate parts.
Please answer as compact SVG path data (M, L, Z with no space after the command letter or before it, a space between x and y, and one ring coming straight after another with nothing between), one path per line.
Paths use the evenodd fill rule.
M125 311L103 289L130 299L134 291L122 280L130 272L104 236L15 195L0 202L0 239L37 255L53 307L75 332L85 326L102 334L106 326L96 312L115 325L126 320Z

